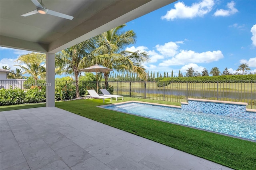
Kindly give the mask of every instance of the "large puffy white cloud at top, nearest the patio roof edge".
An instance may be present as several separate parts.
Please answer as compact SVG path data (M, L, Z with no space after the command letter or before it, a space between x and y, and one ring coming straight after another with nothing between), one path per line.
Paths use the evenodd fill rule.
M186 6L184 2L174 4L175 9L168 11L161 19L174 20L176 18L194 18L204 16L212 10L214 6L213 0L202 0L198 3L193 3L191 6Z

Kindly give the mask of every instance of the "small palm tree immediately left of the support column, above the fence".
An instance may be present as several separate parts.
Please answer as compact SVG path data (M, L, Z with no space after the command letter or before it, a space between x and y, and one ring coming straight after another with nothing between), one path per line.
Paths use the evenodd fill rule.
M30 64L27 63L26 67L24 67L23 65L14 65L14 66L19 66L24 70L23 74L30 74L32 75L32 77L36 81L38 80L39 76L44 77L46 75L46 68L40 64Z

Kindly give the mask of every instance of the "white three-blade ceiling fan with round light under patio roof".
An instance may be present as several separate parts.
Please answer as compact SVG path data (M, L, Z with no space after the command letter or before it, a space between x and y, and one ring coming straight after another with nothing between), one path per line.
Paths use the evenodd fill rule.
M26 14L23 14L21 16L30 16L30 15L34 15L34 14L39 13L39 14L49 14L49 15L53 15L53 16L58 16L60 18L66 18L68 20L72 20L74 18L73 16L62 14L60 12L56 12L56 11L53 11L53 10L48 10L45 7L45 5L43 4L42 0L41 0L40 3L37 0L31 0L31 1L35 4L36 10L28 12Z

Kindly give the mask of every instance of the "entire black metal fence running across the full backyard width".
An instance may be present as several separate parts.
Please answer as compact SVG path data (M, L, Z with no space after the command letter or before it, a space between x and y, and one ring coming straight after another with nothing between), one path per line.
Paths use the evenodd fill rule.
M98 83L98 89L105 82ZM46 81L0 81L0 88L20 88L24 91L45 87ZM95 89L96 82L78 81L80 97L86 89ZM55 81L55 93L59 100L76 97L76 81ZM256 109L256 81L166 81L166 82L108 82L108 89L115 95L170 102L186 102L188 98L236 101L248 103L247 108ZM62 93L66 94L66 97ZM68 94L67 94L68 92ZM99 91L100 92L100 91Z

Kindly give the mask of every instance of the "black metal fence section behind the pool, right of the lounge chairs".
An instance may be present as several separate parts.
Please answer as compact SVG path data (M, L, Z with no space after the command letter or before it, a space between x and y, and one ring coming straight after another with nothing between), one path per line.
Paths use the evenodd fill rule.
M170 102L186 102L188 98L236 101L256 109L256 81L166 81L108 82L114 93Z

